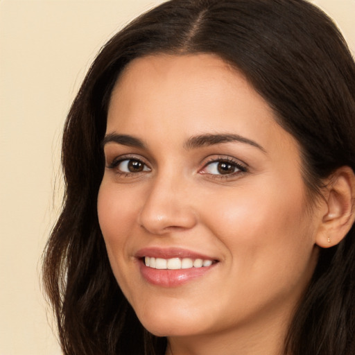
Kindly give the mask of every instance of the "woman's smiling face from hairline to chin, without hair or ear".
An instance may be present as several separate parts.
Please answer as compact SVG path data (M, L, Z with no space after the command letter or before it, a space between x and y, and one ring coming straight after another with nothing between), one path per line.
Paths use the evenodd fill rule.
M207 54L134 60L104 143L98 217L146 329L284 327L315 267L319 218L297 142L243 75Z

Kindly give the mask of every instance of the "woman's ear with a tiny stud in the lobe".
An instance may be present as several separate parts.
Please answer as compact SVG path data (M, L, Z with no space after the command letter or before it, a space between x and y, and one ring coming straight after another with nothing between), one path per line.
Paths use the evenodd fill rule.
M332 247L342 241L355 220L355 175L352 168L342 166L331 174L324 191L320 230L315 243L321 248Z

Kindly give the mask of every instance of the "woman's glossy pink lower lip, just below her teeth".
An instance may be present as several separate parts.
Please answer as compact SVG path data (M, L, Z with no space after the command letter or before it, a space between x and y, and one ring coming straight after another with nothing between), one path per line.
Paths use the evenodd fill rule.
M143 261L140 262L141 275L150 284L162 287L178 287L198 277L202 277L214 268L216 263L202 268L188 268L179 270L160 270L148 268Z

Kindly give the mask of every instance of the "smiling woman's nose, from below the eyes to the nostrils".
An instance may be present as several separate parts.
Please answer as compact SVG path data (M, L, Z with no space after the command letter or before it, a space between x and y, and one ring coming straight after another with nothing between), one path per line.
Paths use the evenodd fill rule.
M139 214L139 224L151 234L189 230L197 223L193 194L183 179L157 178L151 182Z

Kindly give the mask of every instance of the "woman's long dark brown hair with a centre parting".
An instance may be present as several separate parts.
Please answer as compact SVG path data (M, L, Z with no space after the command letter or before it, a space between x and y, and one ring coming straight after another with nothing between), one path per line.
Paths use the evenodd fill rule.
M355 64L334 23L304 0L172 0L132 21L89 69L64 128L62 213L44 254L44 286L66 355L164 354L121 293L96 199L112 88L152 53L214 53L234 65L300 144L310 191L355 168ZM355 354L354 226L318 265L285 339L285 354Z

